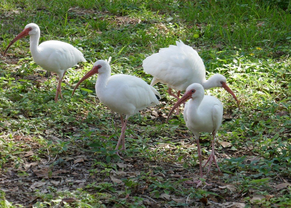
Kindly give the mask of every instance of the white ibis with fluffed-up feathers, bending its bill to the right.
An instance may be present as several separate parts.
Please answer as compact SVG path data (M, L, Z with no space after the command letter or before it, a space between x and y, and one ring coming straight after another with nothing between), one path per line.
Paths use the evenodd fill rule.
M158 53L143 60L144 71L153 76L150 85L154 86L158 82L166 84L168 93L177 99L180 91L192 83L201 84L205 90L222 87L234 97L239 107L235 94L226 84L226 78L221 74L214 74L206 80L205 66L197 51L181 40L176 41L176 44L161 48ZM171 89L178 90L178 94L173 94Z

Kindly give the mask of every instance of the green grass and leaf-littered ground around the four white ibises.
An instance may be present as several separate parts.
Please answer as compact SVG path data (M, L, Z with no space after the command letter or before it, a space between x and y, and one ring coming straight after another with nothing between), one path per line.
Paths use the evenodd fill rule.
M2 0L1 53L34 22L41 29L40 42L68 42L88 62L68 71L64 99L55 104L56 76L50 81L44 77L27 38L1 57L1 207L190 207L203 206L203 198L212 207L235 202L290 206L291 188L282 185L291 183L290 7L289 1L250 0ZM224 106L215 145L222 174L213 166L208 176L213 185L198 189L183 183L198 177L191 131L182 114L164 123L175 102L166 86L156 86L162 94L159 106L129 119L124 161L113 151L120 120L95 97L96 77L82 83L87 90L78 89L71 97L93 62L109 56L113 73L150 83L139 67L142 60L178 39L198 50L207 77L225 75L241 102L238 110L225 90L206 91ZM201 138L205 160L210 135ZM223 148L222 141L230 147ZM84 161L74 163L80 158ZM44 184L33 186L36 182Z

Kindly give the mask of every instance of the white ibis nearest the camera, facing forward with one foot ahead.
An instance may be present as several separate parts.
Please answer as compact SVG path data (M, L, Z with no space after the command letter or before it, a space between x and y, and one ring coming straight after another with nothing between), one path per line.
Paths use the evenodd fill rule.
M221 125L223 107L219 99L209 95L204 95L203 86L198 83L194 83L187 87L185 94L173 106L167 117L166 122L168 122L168 119L173 113L174 109L176 107L179 107L180 104L186 102L188 99L189 101L185 104L183 115L186 126L194 133L196 139L200 166L200 177L203 178L201 150L199 145L199 132L209 132L212 133L213 136L212 152L204 165L206 166L206 164L209 162L207 174L209 173L212 161L216 165L217 169L220 171L215 159L214 142L215 134ZM201 180L197 180L192 183L197 183L196 187L198 187L201 185L202 182Z

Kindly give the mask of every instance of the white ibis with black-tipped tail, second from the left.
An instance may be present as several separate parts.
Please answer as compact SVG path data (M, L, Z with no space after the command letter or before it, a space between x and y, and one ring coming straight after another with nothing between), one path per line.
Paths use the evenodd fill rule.
M120 115L122 128L115 150L118 150L121 140L121 150L125 150L125 129L129 116L147 107L159 104L160 94L139 77L127 74L110 76L109 63L98 60L93 64L92 70L77 83L72 95L82 81L97 73L98 77L95 84L97 97L105 106ZM125 121L123 121L123 114L125 114ZM118 151L116 154L118 154Z

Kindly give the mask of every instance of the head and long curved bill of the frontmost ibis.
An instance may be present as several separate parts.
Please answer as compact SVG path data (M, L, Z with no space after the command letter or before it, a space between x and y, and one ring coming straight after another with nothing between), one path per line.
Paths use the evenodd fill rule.
M187 100L193 98L197 98L197 97L201 97L204 95L204 88L202 85L198 84L198 83L193 83L191 85L189 85L184 93L184 95L176 102L176 104L172 107L172 109L170 110L166 123L168 123L168 120L170 118L170 115L173 113L173 111L179 107L182 103L186 102Z

